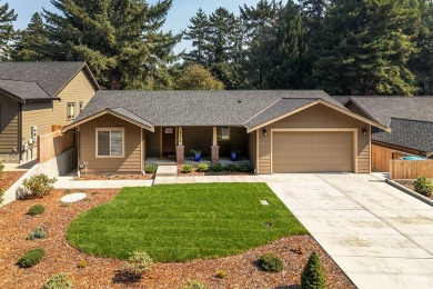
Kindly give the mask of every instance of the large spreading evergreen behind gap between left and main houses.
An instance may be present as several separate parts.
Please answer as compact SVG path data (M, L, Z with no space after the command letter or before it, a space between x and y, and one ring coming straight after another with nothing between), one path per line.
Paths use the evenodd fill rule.
M51 58L83 60L103 87L160 89L164 67L181 36L162 32L172 0L50 0L60 13L43 10Z

